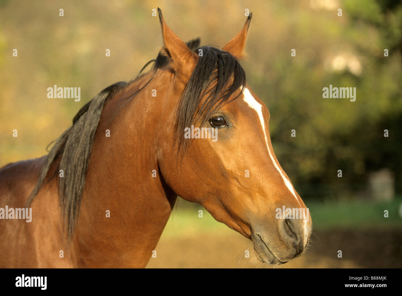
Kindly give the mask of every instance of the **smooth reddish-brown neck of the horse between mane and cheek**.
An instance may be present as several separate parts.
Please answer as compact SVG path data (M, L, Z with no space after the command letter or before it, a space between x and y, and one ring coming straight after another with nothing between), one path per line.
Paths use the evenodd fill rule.
M172 139L172 74L158 70L139 93L124 99L149 79L126 87L103 110L76 228L78 265L144 267L176 200L158 166L161 145Z

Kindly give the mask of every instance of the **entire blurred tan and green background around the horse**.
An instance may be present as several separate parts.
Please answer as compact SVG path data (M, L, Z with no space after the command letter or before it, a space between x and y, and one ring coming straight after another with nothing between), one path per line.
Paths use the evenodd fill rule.
M401 1L0 0L0 166L46 154L88 100L156 58L157 7L181 39L218 48L253 13L242 66L313 219L308 252L279 268L402 267ZM48 99L55 84L81 87L81 101ZM329 85L356 87L356 101L324 99ZM180 198L156 250L148 267L267 267L250 240Z

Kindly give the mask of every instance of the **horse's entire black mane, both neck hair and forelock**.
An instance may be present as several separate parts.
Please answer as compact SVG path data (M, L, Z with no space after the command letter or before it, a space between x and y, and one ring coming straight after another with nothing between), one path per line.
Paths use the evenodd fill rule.
M228 101L232 93L240 86L244 87L246 83L243 68L230 53L209 46L199 47L199 38L193 39L186 44L193 51L202 49L203 56L199 58L178 103L175 128L179 147L182 147L183 151L187 146L186 144L183 145L182 138L184 137L180 137L180 135L183 136L184 128L196 122L200 116L209 114L215 108L222 106ZM55 141L45 159L45 164L41 168L38 181L28 197L26 207L29 207L39 190L59 174L59 170L64 170L64 177L58 178L58 194L69 241L74 233L80 212L92 143L103 107L116 93L137 81L150 62L155 63L152 68L154 75L130 97L150 83L155 76L156 70L168 67L170 58L166 56L166 50L162 49L155 60L145 64L136 79L129 83L115 83L98 93L78 111L74 116L72 126ZM232 81L231 85L229 85L230 81ZM210 88L215 82L216 86ZM197 107L204 95L208 95L207 99L202 104L201 109L197 111Z

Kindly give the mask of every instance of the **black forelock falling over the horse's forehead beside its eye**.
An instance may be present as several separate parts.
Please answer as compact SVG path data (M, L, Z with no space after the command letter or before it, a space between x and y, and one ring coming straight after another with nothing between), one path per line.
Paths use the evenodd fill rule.
M236 99L246 86L246 74L232 54L211 46L201 46L198 52L200 50L202 56L197 61L176 110L174 128L178 150L182 156L190 143L190 139L183 136L185 128L196 124L200 118L203 120L199 124L205 124L215 110L229 102L233 93L242 87L231 101Z

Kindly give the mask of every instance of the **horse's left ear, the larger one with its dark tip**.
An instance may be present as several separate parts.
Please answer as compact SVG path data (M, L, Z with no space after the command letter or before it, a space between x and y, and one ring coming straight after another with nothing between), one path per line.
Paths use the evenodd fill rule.
M198 56L194 54L169 27L162 16L162 10L158 7L160 25L162 26L163 43L166 54L173 62L173 68L181 79L189 79L197 64ZM186 81L187 82L187 81Z

